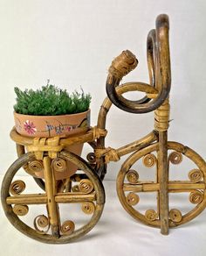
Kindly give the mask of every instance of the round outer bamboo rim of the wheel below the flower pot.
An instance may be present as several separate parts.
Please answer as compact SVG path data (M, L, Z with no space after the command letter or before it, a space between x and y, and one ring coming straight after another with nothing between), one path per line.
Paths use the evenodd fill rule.
M18 160L16 160L8 169L7 173L3 178L3 185L1 191L1 198L3 204L3 210L5 212L6 217L10 220L10 223L13 224L18 231L23 232L28 237L34 238L38 241L52 244L64 244L73 241L74 239L80 238L84 236L88 231L93 229L93 226L98 223L100 220L100 216L102 214L104 203L105 203L105 192L102 186L102 183L99 177L93 173L91 168L86 164L85 160L82 160L79 156L62 152L59 153L59 157L64 160L70 160L72 163L76 164L80 167L88 177L88 179L93 183L93 193L95 194L95 210L93 212L93 216L89 220L89 222L83 225L81 228L73 231L71 234L61 234L59 238L55 238L50 234L41 234L37 230L31 228L31 226L24 224L24 222L18 217L14 211L11 204L7 203L8 197L12 197L10 195L10 184L13 180L15 174L19 168L23 167L27 162L34 160L35 156L33 153L25 153ZM24 194L22 194L24 195ZM25 196L25 195L24 195ZM80 195L81 196L81 195ZM12 198L11 198L12 199ZM64 202L63 202L64 203ZM75 203L75 202L72 202ZM36 204L36 203L35 203Z

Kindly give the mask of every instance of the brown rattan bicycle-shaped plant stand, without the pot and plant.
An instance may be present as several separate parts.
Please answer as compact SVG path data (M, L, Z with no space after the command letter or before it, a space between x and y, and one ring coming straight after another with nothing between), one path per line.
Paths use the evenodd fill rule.
M206 206L206 163L203 158L180 143L168 141L169 90L171 83L168 47L168 16L156 19L156 29L148 33L148 72L150 82L127 82L120 84L124 75L136 68L138 60L133 53L124 51L113 60L106 80L105 101L100 107L97 126L87 132L67 138L27 138L17 133L15 128L10 137L17 144L18 159L10 166L3 179L2 203L6 217L17 230L45 243L68 243L91 231L100 219L105 203L102 180L106 174L106 164L118 161L128 153L117 176L117 193L120 203L127 212L143 224L159 227L162 234L168 234L169 227L185 224L199 215ZM141 100L131 101L122 96L128 91L145 92ZM131 113L147 113L154 110L154 131L143 139L136 140L118 149L105 146L106 115L112 104ZM83 160L66 150L67 146L89 143L93 152ZM27 152L27 153L25 153ZM145 167L155 167L154 181L142 181L141 175L132 167L143 160ZM189 159L196 168L189 171L186 181L170 181L169 166L178 165ZM55 172L64 172L71 161L78 171L64 179L55 179ZM26 193L26 184L15 178L20 168L31 174L43 193ZM37 177L44 171L44 179ZM25 190L24 190L25 189ZM156 209L144 213L138 210L141 193L156 194ZM138 194L139 193L139 194ZM183 213L169 207L169 193L188 193L189 202L195 204L192 210ZM89 216L80 227L70 219L61 216L61 204L81 204L81 210ZM191 205L192 205L191 204ZM33 217L33 224L24 223L33 205L45 205L45 214ZM31 207L32 206L32 207ZM38 210L35 211L38 212ZM31 214L31 210L30 210Z

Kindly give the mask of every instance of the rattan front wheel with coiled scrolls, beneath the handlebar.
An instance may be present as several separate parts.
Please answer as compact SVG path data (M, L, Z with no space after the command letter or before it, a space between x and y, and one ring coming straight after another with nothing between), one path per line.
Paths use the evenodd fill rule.
M134 217L135 219L141 221L143 224L148 224L150 226L154 227L160 227L160 217L158 212L155 210L147 210L145 214L142 214L139 210L134 209L132 200L134 202L139 203L139 198L135 198L135 195L137 192L139 193L144 193L147 192L147 189L150 189L148 191L153 191L155 193L158 193L159 187L158 183L154 182L152 184L149 184L147 188L146 183L144 181L138 181L136 184L133 184L132 181L135 181L134 176L131 178L132 173L130 174L131 168L133 167L134 163L137 162L138 160L141 160L141 158L146 156L152 157L153 153L155 151L158 151L159 145L158 143L155 143L153 145L147 146L144 149L132 154L122 165L120 172L117 177L117 194L120 199L120 203L122 204L123 208L127 210L127 212ZM179 144L177 142L168 142L168 150L173 150L176 155L173 156L174 162L173 164L178 164L181 162L181 160L178 160L178 157L181 155L186 156L189 160L193 161L196 164L197 170L199 171L196 174L190 173L190 175L193 174L193 176L196 177L199 175L199 181L197 177L197 181L182 181L181 184L183 186L187 187L187 184L189 182L193 184L193 188L190 189L190 195L189 197L193 198L191 199L194 200L193 203L196 203L196 207L194 207L192 210L189 210L186 214L182 215L179 210L176 209L170 209L169 211L169 227L175 227L181 224L185 224L198 216L206 206L206 190L205 190L205 184L206 184L206 163L205 161L192 149L190 149L187 146L183 146L182 144ZM179 155L178 155L179 153ZM175 163L175 160L177 161ZM179 162L178 162L179 161ZM151 161L150 161L151 163ZM148 162L149 164L149 162ZM149 166L148 166L149 167ZM134 171L134 170L132 170ZM127 181L126 179L128 178L128 175L130 174L130 182ZM134 174L133 174L134 175ZM133 180L132 180L133 179ZM173 184L174 183L174 184ZM184 183L186 185L184 185ZM147 181L148 184L148 181ZM172 193L175 190L175 192L181 193L181 190L178 188L175 188L176 186L179 187L180 184L175 183L175 181L169 181L168 185L168 193ZM184 187L186 189L186 187ZM131 188L131 189L130 189ZM144 190L145 189L145 190ZM142 190L142 192L141 192ZM188 191L188 192L189 192ZM126 193L130 192L129 196L126 196ZM193 194L192 193L196 193ZM190 201L190 202L191 202Z

